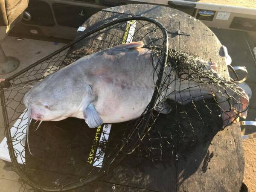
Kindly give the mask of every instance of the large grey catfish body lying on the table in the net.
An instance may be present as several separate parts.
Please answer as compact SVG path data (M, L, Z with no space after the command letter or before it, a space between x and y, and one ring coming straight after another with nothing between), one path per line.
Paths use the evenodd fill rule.
M141 47L143 43L140 41L105 49L48 76L24 96L31 118L59 121L77 117L85 119L89 127L137 118L150 102L156 80L153 80L152 52ZM166 70L170 69L167 67ZM178 85L179 81L176 81L176 87ZM188 86L188 82L181 84L184 90ZM209 86L201 89L212 93ZM173 83L168 93L174 90ZM195 88L194 95L198 93ZM232 90L230 94L233 94ZM189 92L184 91L180 98L174 93L168 98L181 102L189 96ZM221 95L216 97L222 99ZM244 98L247 99L246 94ZM224 110L229 110L227 108L229 106L224 106ZM238 112L242 110L239 105Z

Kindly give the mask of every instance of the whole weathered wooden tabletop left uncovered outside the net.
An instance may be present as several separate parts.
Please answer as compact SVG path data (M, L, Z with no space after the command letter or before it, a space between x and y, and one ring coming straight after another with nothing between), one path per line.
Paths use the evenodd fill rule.
M87 31L129 15L155 18L168 31L179 29L180 32L190 34L170 34L169 47L192 52L205 60L212 59L218 63L218 72L228 77L224 58L219 54L221 43L218 38L199 20L176 9L146 4L118 6L96 13L83 26ZM81 34L79 32L78 35ZM169 163L151 163L128 156L113 172L100 180L122 185L120 191L132 191L129 187L134 187L138 188L137 191L239 192L243 174L241 131L239 125L233 124L178 161L173 159Z

